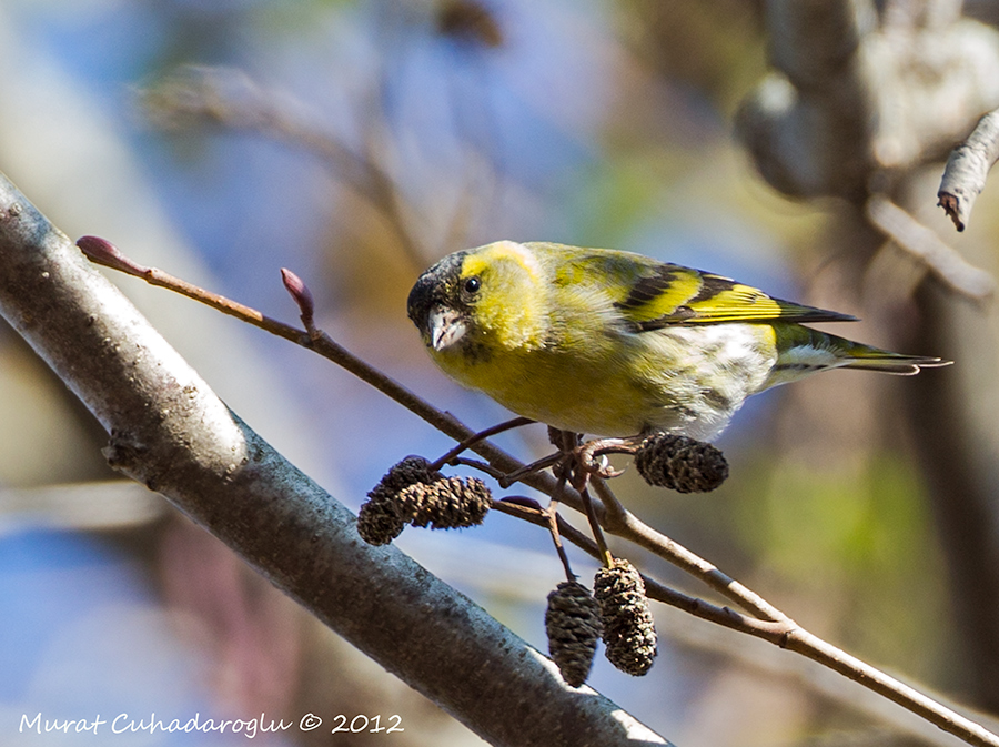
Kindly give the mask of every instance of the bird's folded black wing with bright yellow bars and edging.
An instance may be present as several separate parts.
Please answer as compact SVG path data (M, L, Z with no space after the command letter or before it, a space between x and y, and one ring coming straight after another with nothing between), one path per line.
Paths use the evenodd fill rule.
M649 267L614 304L639 331L716 322L852 322L855 316L774 299L728 277L677 264Z

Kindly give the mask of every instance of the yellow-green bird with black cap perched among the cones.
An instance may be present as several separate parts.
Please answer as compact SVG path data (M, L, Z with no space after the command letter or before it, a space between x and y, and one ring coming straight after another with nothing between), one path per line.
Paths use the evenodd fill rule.
M717 437L753 394L904 355L807 324L857 321L626 251L496 241L444 256L407 300L431 359L507 410L579 434Z

